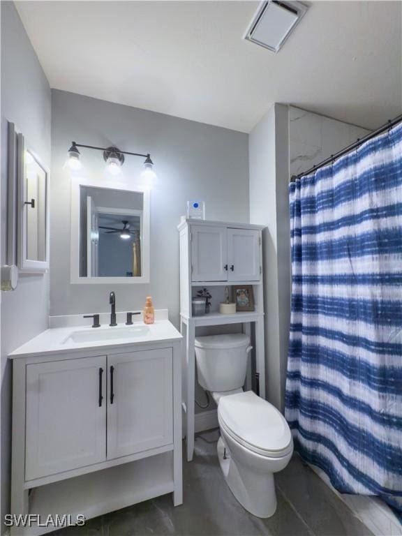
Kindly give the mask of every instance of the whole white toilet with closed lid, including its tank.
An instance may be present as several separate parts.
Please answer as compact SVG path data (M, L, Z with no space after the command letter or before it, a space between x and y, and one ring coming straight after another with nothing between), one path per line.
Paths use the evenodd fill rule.
M292 457L288 423L269 402L243 391L250 338L224 334L195 338L198 382L218 405L218 459L240 504L258 517L276 510L274 473Z

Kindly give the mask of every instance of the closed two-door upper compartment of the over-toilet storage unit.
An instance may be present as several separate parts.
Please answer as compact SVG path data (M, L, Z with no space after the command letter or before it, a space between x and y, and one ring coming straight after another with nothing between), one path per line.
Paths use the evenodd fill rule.
M191 225L191 281L260 281L261 232Z

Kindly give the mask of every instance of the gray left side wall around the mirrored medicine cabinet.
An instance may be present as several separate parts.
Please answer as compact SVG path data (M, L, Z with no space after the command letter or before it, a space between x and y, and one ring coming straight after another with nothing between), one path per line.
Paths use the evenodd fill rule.
M51 94L14 4L1 2L1 263L6 262L7 121L50 167ZM21 276L1 295L1 520L10 500L11 366L9 352L47 328L48 276ZM1 523L1 530L3 524Z

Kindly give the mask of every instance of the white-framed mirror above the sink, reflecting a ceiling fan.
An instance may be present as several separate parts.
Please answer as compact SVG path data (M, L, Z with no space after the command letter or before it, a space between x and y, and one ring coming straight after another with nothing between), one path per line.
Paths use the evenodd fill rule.
M71 282L149 283L149 191L73 179Z

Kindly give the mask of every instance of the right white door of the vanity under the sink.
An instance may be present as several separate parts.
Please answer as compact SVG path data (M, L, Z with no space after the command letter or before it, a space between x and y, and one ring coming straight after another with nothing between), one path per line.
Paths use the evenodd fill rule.
M109 356L107 378L107 459L172 444L172 348Z

